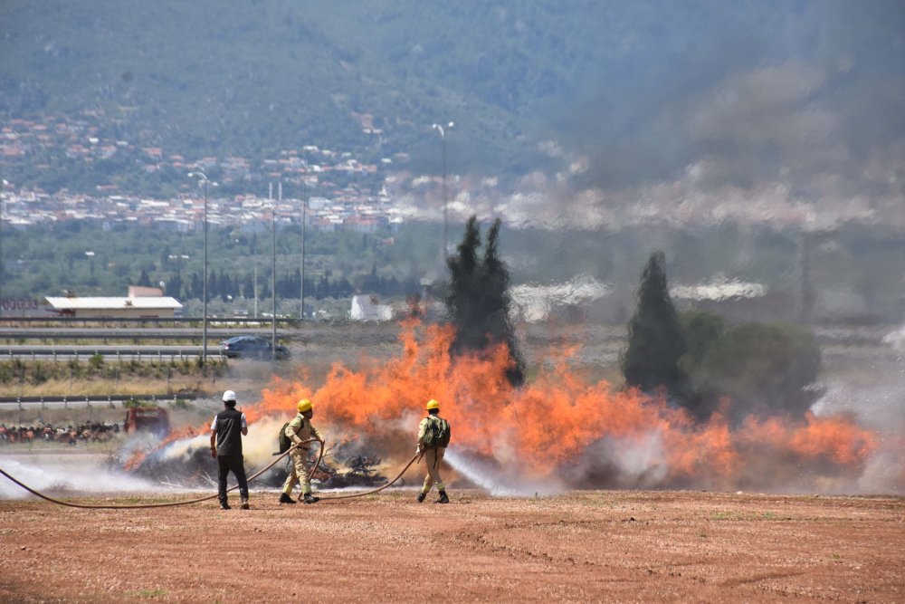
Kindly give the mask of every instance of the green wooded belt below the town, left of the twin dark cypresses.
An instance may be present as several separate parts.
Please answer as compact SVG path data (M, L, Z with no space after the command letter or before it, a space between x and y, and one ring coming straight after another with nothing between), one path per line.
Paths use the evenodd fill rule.
M429 231L429 229L427 229ZM420 246L405 232L308 232L305 244L306 298L348 298L355 292L405 296L417 292L419 275L437 254L421 262L409 252ZM271 297L271 235L240 228L208 232L208 299L224 302ZM201 300L204 238L199 233L153 226L71 222L5 228L6 299L40 299L69 290L80 296L125 295L129 285L158 287L180 301ZM256 270L255 270L256 269ZM298 299L301 290L301 233L298 225L278 230L276 292Z

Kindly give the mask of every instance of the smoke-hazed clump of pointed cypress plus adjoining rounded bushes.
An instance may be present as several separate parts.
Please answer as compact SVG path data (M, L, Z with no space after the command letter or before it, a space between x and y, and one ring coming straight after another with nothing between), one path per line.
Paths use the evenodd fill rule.
M665 264L654 252L642 273L621 359L626 386L662 394L699 420L715 412L733 422L804 416L821 394L814 334L779 321L728 324L714 312L677 312Z

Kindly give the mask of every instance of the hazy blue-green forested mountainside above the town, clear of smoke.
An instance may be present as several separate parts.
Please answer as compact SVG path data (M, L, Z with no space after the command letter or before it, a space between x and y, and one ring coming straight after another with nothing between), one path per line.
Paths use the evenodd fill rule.
M100 111L146 145L252 157L299 143L417 157L430 124L452 119L459 161L513 167L530 163L526 143L571 129L588 108L609 104L621 119L586 135L621 137L655 104L650 93L678 79L700 87L727 69L819 53L772 44L777 30L804 29L783 6L11 0L0 5L0 110ZM826 20L812 16L800 20Z

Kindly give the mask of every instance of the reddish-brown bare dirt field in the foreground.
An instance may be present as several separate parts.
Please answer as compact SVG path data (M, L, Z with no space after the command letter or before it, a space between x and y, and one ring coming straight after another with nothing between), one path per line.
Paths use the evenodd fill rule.
M281 507L252 489L252 510L228 512L0 502L0 600L905 601L902 498L414 494Z

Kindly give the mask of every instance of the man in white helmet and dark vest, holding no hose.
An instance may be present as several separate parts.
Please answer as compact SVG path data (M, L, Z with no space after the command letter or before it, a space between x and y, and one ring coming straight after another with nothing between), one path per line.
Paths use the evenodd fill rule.
M211 456L217 460L217 490L220 494L220 507L230 509L226 501L226 475L230 472L239 482L239 496L242 509L248 509L248 480L245 478L245 465L242 456L242 437L248 434L248 422L245 414L235 408L235 392L224 392L224 410L214 416L211 424Z

